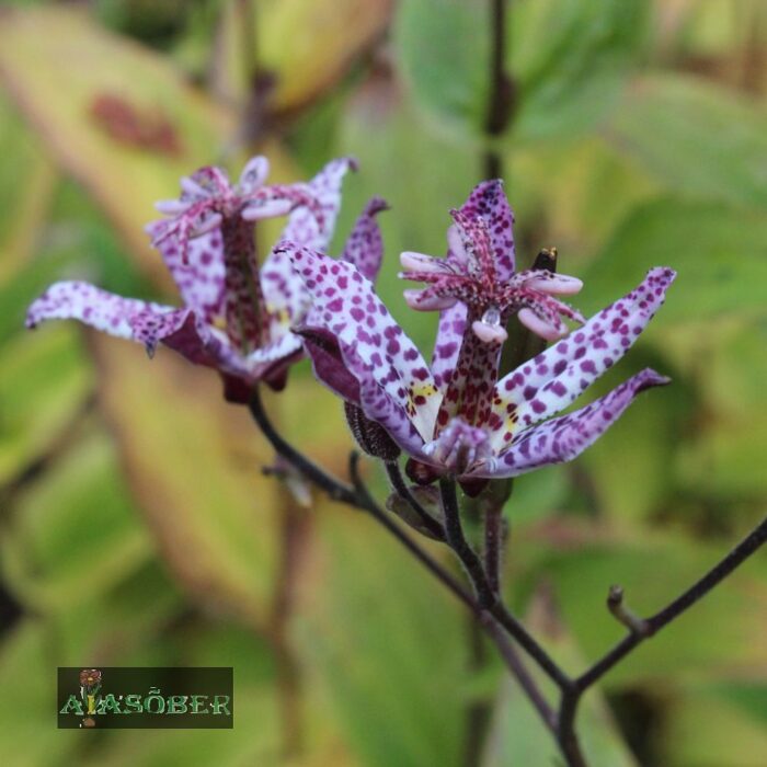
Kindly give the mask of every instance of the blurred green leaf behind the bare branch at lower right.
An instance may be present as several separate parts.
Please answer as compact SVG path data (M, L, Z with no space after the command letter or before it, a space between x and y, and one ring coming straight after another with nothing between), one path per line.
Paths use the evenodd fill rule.
M672 530L655 538L633 530L623 540L552 523L551 536L542 542L535 565L527 559L533 552L529 542L526 551L519 546L518 556L526 561L528 586L540 577L553 584L566 625L585 657L594 661L625 633L605 606L611 584L623 586L634 611L651 615L695 583L736 540L733 534L718 546L705 546ZM767 673L765 610L767 568L753 558L673 625L642 643L604 684L652 680L661 689L669 679L711 679L739 673L762 679Z

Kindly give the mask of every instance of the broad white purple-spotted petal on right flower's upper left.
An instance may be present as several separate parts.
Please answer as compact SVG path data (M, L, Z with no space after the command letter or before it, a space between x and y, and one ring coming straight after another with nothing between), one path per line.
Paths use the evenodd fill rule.
M308 323L331 335L342 354L353 351L359 365L350 367L357 380L375 384L404 410L421 437L431 439L439 393L421 353L369 281L352 264L306 248L291 248L289 254L312 297Z

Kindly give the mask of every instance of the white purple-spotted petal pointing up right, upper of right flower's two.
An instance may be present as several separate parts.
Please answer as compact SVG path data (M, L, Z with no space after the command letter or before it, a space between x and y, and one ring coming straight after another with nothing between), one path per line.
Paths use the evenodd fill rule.
M663 304L676 273L656 267L583 328L510 373L495 387L490 424L500 450L518 428L564 410L620 359Z

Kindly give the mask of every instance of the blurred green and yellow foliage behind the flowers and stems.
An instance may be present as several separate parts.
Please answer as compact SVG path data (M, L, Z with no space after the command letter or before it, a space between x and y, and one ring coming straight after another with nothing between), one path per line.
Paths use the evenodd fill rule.
M467 616L358 514L307 510L213 371L72 323L23 330L57 278L173 300L142 226L202 164L274 178L353 154L339 242L385 196L380 293L403 249L502 159L523 264L556 244L588 314L667 264L666 307L602 389L643 397L574 465L520 478L507 593L569 668L652 611L767 506L767 7L510 0L508 128L484 135L484 0L16 0L0 8L0 762L557 764ZM275 232L262 232L265 243ZM334 251L336 252L336 251ZM598 393L598 392L597 392ZM286 432L345 471L333 400L294 369ZM370 472L379 491L385 485ZM57 665L233 665L233 731L57 731ZM767 762L767 560L589 692L597 767ZM468 745L469 731L479 743ZM472 757L467 757L471 749Z

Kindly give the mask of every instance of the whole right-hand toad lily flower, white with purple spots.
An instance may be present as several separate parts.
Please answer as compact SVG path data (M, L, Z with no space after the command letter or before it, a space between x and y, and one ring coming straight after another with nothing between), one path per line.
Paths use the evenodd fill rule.
M417 461L461 480L514 477L568 461L640 391L668 382L645 369L592 404L550 417L634 343L675 277L665 267L651 270L634 290L497 380L503 333L478 330L476 323L497 329L510 313L527 309L530 314L520 319L528 327L560 336L560 318L580 317L551 295L572 293L580 283L551 273L514 273L513 219L499 182L480 184L454 219L447 259L403 256L407 267L419 265L404 276L430 277L431 284L420 295L408 294L408 301L443 309L431 369L352 264L286 245L313 301L299 332L317 377ZM492 285L488 275L494 275ZM497 322L479 314L486 314L491 300Z

